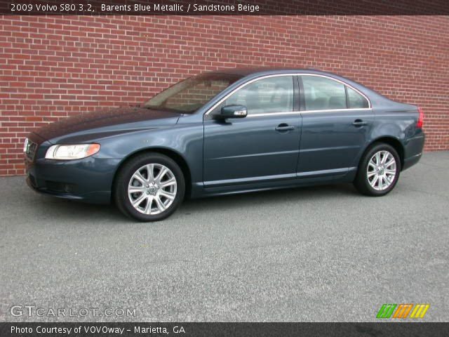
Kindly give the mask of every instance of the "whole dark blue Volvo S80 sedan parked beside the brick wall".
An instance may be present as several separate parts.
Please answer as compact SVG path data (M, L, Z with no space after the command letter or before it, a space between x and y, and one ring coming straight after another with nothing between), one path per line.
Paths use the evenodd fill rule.
M48 124L25 141L27 183L56 197L115 201L143 221L185 196L354 183L381 196L424 146L420 107L316 70L222 70L140 107Z

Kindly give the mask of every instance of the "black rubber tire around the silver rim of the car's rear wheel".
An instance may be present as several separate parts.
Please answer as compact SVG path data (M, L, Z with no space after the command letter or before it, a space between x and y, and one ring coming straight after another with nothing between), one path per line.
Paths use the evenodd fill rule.
M395 176L393 180L391 180L391 184L384 190L377 190L375 187L370 185L370 181L368 180L368 164L370 162L370 159L373 158L373 156L380 151L389 152L396 161ZM370 169L375 170L373 169L373 166L370 166ZM372 171L370 173L372 173ZM401 159L399 158L398 152L394 150L394 147L385 143L375 143L368 148L365 154L363 154L360 164L358 165L357 176L356 179L354 180L354 186L356 187L358 192L361 192L362 194L366 194L371 197L382 197L382 195L385 195L394 189L394 186L396 186L396 183L398 182L400 173L401 173ZM375 183L375 186L376 185L377 187L379 187L378 186L379 183Z

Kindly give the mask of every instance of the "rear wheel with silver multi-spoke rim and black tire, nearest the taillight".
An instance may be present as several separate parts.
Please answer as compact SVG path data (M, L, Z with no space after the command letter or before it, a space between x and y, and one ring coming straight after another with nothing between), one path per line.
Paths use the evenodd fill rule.
M401 160L391 145L377 143L361 159L354 185L363 194L381 197L393 190L401 173Z

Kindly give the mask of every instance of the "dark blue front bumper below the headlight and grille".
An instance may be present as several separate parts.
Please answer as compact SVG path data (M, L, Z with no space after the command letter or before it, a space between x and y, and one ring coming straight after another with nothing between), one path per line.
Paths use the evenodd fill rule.
M119 159L88 157L74 161L25 159L27 185L62 199L108 204Z

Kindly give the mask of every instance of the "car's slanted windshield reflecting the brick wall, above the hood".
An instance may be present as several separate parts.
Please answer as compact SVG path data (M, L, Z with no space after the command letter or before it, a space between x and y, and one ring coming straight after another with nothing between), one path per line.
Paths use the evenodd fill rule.
M192 114L238 79L241 76L236 74L202 74L190 77L158 93L143 106Z

